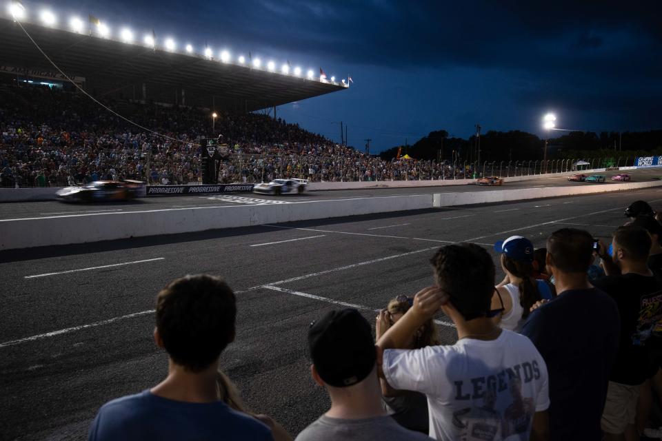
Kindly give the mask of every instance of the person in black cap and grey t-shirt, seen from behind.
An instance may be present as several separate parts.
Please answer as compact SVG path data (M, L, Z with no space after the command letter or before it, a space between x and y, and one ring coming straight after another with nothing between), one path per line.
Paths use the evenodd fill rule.
M313 322L308 349L312 378L328 391L331 409L297 441L430 439L401 427L383 409L372 329L359 311L329 311Z

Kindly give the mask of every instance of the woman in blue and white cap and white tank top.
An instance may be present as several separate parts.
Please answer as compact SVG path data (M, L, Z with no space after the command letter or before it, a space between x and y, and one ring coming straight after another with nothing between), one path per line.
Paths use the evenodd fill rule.
M510 236L495 243L494 251L501 255L506 277L492 296L492 309L502 309L493 320L503 329L519 332L531 307L540 300L552 300L552 291L544 280L534 278L534 250L530 240Z

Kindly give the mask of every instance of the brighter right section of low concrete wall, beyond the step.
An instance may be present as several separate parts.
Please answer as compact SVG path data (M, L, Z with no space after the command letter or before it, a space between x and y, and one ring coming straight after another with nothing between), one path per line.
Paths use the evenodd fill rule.
M581 187L545 187L499 189L492 192L463 192L434 194L434 207L452 207L454 205L471 205L524 199L554 198L557 196L574 196L579 194L596 194L605 192L621 192L650 187L660 187L662 181L634 182L623 184L584 184Z

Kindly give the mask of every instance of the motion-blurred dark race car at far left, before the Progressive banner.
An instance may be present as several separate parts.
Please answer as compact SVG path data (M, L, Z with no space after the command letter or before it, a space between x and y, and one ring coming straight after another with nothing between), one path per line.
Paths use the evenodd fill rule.
M145 183L141 181L94 181L84 187L66 187L55 193L59 201L95 202L128 201L142 196Z

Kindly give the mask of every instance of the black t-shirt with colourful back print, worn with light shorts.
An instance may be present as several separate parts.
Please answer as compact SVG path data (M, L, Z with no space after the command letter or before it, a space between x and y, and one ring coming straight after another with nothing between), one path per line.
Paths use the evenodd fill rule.
M650 376L651 338L662 334L662 281L655 276L624 274L594 280L616 301L621 314L619 352L610 380L621 384L641 384Z

